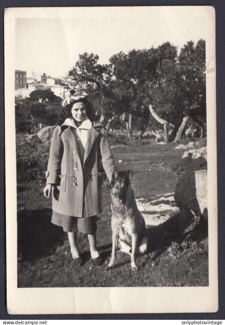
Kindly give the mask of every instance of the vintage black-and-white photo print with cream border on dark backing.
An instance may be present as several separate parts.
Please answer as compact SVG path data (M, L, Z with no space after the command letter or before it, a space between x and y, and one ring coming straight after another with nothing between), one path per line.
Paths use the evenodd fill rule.
M192 288L212 301L188 311L216 308L214 15L6 10L9 287Z

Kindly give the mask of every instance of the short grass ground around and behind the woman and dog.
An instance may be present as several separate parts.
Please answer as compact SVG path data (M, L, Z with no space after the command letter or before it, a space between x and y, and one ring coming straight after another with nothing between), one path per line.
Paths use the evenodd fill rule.
M119 172L132 174L136 198L174 192L178 176L171 165L184 150L174 144L133 145L112 148ZM122 163L118 163L122 160ZM103 190L104 211L99 215L97 241L104 260L94 266L88 241L78 234L85 261L75 266L67 234L51 224L51 200L43 195L43 185L19 184L18 195L18 287L145 287L207 286L208 239L187 236L179 231L180 214L164 224L150 227L148 254L137 258L139 272L133 273L130 256L119 252L112 270L105 271L112 250L110 189ZM188 238L187 238L188 237Z

